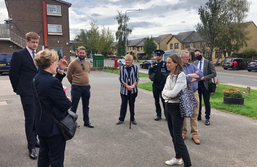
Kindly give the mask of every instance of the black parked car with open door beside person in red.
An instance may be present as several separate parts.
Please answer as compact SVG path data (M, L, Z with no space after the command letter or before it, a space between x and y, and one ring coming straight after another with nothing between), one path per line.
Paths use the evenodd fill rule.
M234 60L237 61L238 69L247 69L248 62L243 58L225 58L222 62L222 67L227 70L228 68L234 68Z

